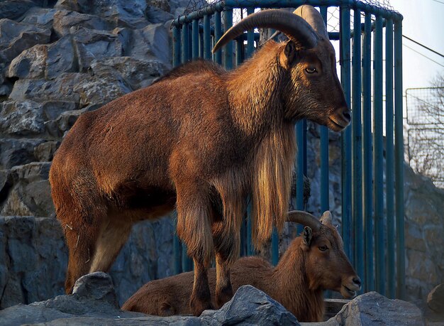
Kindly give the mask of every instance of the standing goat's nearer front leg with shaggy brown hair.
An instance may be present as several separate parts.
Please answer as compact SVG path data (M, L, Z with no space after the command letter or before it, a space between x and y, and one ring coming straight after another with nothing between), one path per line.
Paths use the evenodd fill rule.
M213 256L213 237L209 222L210 203L205 188L176 185L177 235L187 244L188 255L194 260L194 286L189 302L193 315L212 309L207 269Z

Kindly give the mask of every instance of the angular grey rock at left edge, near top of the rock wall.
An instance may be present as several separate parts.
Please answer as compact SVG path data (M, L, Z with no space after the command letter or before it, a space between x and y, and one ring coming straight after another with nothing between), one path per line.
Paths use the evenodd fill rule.
M11 62L23 50L50 41L51 31L36 26L0 19L0 59Z

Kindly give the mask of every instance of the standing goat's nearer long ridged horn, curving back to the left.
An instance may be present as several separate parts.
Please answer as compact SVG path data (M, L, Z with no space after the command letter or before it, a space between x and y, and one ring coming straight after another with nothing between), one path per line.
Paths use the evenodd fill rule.
M303 18L282 9L270 9L252 13L231 27L214 45L213 53L233 38L240 36L244 31L250 31L256 27L274 28L282 31L291 40L306 48L313 48L318 43L316 32Z

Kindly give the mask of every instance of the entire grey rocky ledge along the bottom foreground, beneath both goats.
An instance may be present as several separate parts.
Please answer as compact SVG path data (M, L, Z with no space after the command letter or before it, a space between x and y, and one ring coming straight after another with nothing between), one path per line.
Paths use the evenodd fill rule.
M122 311L111 278L96 272L77 280L72 295L14 305L0 311L0 325L424 325L421 310L375 292L360 295L326 322L299 323L280 303L261 290L242 286L219 310L200 317L155 317Z

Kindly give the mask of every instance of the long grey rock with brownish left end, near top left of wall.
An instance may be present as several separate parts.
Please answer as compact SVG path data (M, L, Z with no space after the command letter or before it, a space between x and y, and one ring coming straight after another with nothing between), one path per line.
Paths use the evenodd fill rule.
M60 2L60 1L59 1ZM70 28L73 26L82 26L92 30L112 30L114 26L113 22L101 18L95 15L89 15L87 13L78 13L76 11L57 11L54 15L54 28L57 36L62 37L70 33Z

